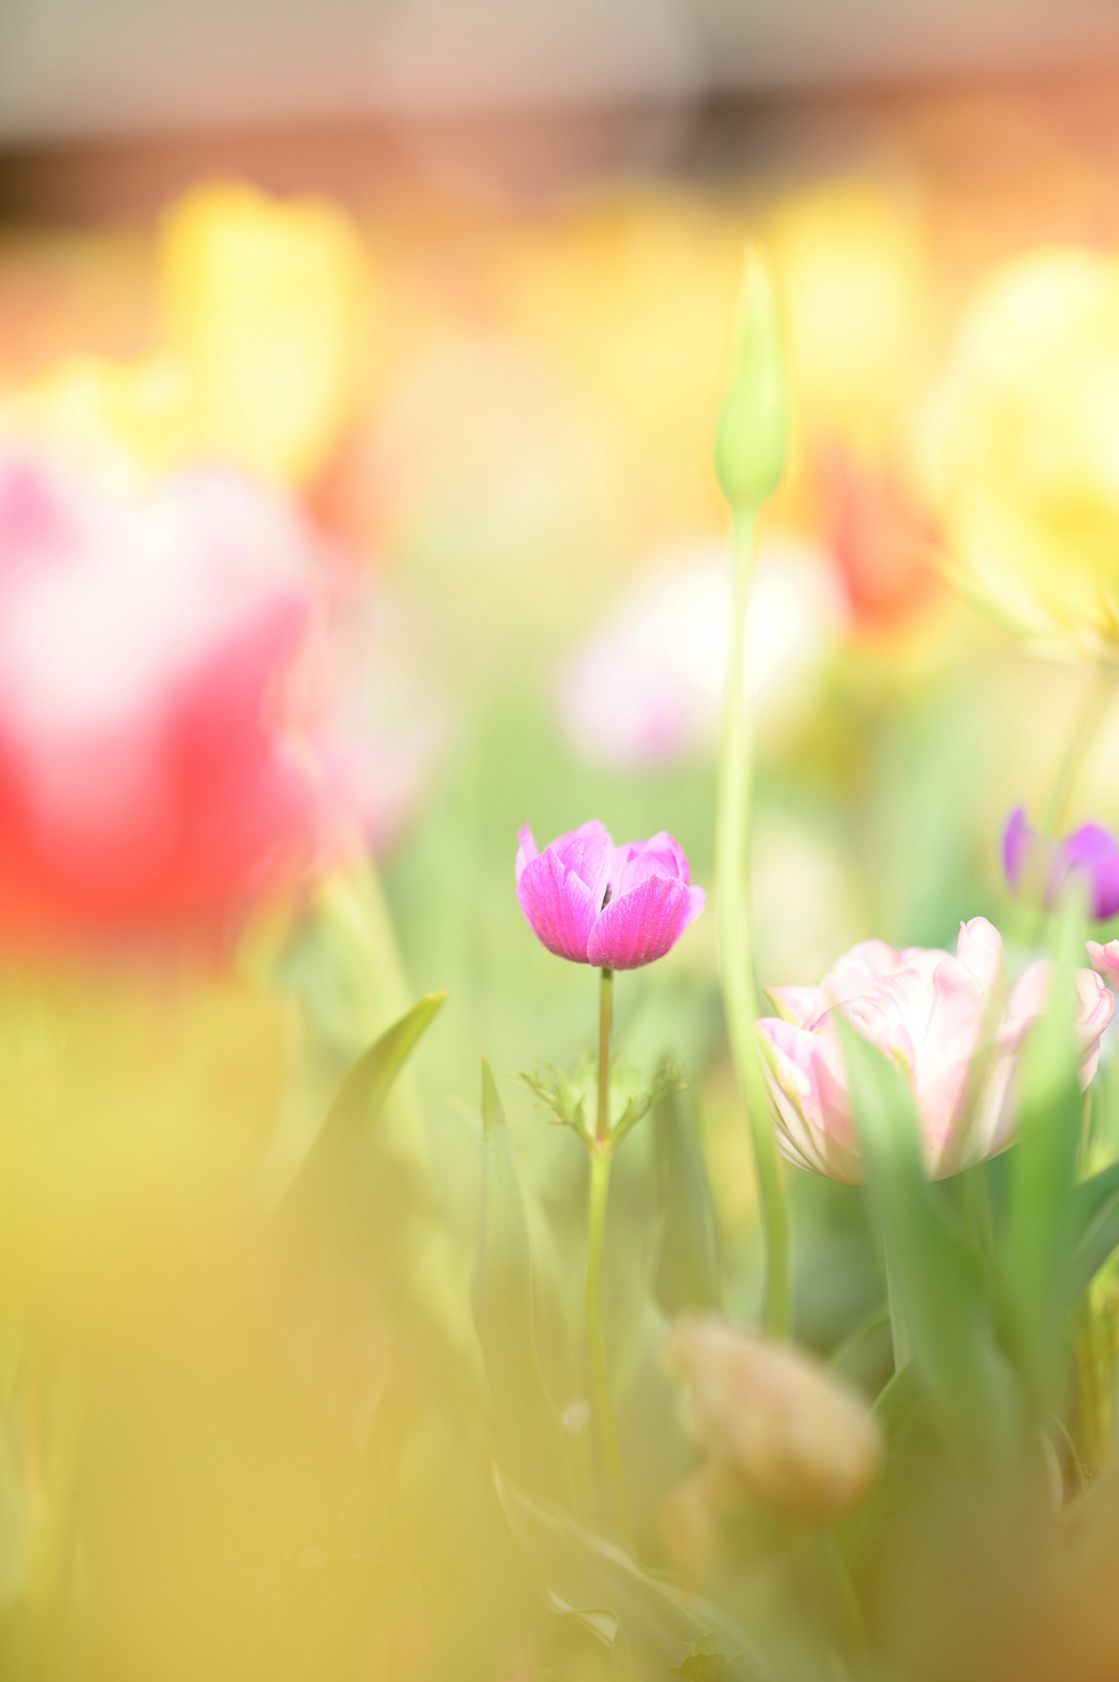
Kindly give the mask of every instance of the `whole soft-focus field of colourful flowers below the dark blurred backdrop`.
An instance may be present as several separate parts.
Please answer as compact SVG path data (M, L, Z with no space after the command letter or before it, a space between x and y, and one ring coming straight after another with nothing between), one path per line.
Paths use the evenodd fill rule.
M1116 1675L1116 204L0 229L0 1675Z

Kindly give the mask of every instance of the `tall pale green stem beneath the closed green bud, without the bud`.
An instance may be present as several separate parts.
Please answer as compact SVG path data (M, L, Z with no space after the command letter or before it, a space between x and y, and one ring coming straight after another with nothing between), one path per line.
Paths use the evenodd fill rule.
M757 516L747 513L735 515L734 619L715 807L717 934L730 1055L734 1056L739 1090L745 1102L754 1140L757 1199L766 1246L764 1325L771 1336L788 1337L791 1325L789 1221L784 1181L769 1120L769 1095L754 1041L757 992L754 986L747 886L752 740L742 698L742 676L745 666L745 609L750 574L754 570L756 542Z

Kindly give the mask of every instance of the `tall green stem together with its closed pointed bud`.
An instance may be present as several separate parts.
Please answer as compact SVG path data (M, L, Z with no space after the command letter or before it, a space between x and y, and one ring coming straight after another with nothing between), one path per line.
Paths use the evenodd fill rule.
M754 1039L757 989L750 942L749 841L752 728L745 690L745 622L757 545L757 520L784 473L789 397L784 330L774 278L752 247L735 321L735 358L715 432L715 476L734 516L730 659L724 701L715 811L719 967L730 1053L754 1144L766 1245L764 1324L789 1332L789 1223L784 1181L761 1056Z

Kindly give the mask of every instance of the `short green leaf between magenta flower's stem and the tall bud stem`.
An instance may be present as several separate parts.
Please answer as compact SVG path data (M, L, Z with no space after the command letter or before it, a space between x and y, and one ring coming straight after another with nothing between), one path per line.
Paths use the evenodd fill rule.
M715 1203L690 1112L675 1092L655 1107L661 1233L653 1293L665 1314L719 1309L722 1278Z

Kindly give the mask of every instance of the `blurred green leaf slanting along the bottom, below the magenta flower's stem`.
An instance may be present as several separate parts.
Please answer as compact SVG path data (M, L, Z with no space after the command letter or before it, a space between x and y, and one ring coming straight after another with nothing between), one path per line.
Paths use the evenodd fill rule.
M641 1682L660 1682L670 1665L680 1663L688 1643L712 1632L749 1655L752 1677L766 1675L744 1630L719 1606L685 1595L670 1578L638 1564L621 1542L586 1529L552 1504L533 1500L498 1473L495 1482L552 1610L577 1618L611 1648L624 1633Z

